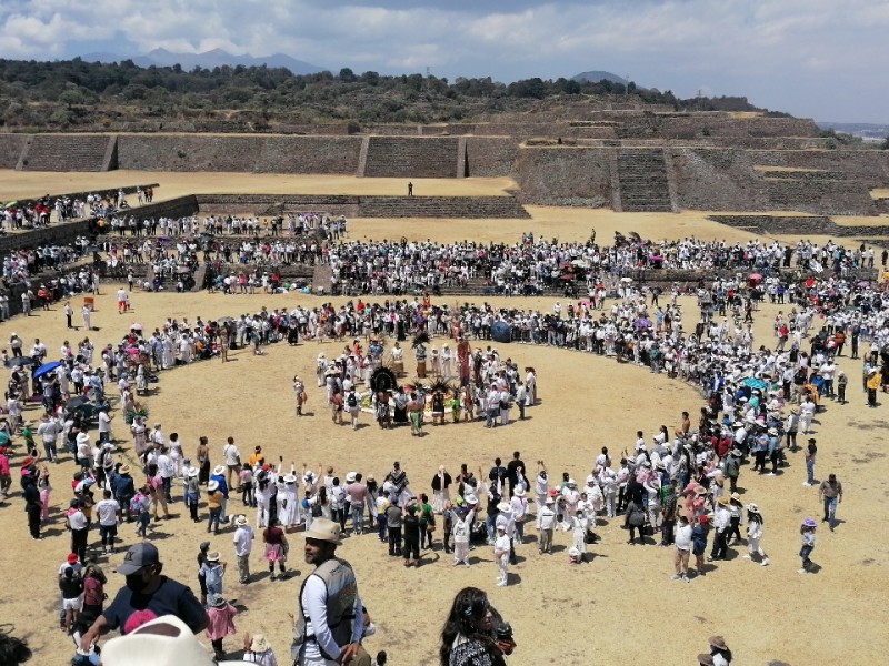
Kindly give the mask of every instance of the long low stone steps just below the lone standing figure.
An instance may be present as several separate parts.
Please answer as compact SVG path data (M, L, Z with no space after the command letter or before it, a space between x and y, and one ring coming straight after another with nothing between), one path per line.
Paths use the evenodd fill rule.
M358 214L361 218L530 218L512 196L362 196Z

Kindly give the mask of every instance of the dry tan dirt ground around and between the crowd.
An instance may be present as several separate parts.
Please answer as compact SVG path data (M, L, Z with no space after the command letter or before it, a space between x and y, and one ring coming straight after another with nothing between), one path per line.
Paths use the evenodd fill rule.
M111 186L130 181L161 182L159 193L198 191L200 186L208 188L204 191L230 192L247 181L251 181L252 191L279 192L284 180L293 181L293 191L309 191L302 179L280 176L238 175L229 182L219 174L198 174L193 179L184 174L39 174L46 176L42 181L36 174L26 175L34 179L31 188L40 192L77 190L84 183L99 186L100 179L107 179ZM8 185L11 180L21 181L20 176L0 173L0 183ZM61 179L71 180L61 183ZM317 182L312 188L320 189L327 179L307 180ZM381 193L386 190L384 183L377 181L352 182L354 190L346 190L347 183L336 188L358 191L359 186L372 186ZM403 183L391 185L389 193L398 193ZM19 186L16 195L23 195L24 185ZM437 191L455 194L492 186L501 185L472 181L436 183ZM6 192L7 186L0 191ZM250 188L244 185L243 191ZM513 242L526 230L545 236L582 240L596 226L600 239L610 238L617 229L655 238L691 234L748 238L708 222L702 213L616 215L559 209L531 209L531 212L533 220L520 222L357 220L351 231L353 238L398 234L441 241L468 238ZM113 287L108 285L97 301L93 324L100 330L90 334L97 346L117 342L133 321L152 330L168 316L211 319L257 311L262 305L289 309L298 303L318 304L317 299L303 295L136 293L133 312L118 315L112 294ZM499 299L486 300L498 305L506 303ZM508 304L549 310L552 301L512 299ZM80 301L73 304L77 310ZM682 305L686 322L693 324L697 321L693 302L685 300ZM776 310L767 305L757 315L757 344L770 344L769 323ZM73 343L84 335L83 331L66 330L59 306L3 323L0 340L8 340L12 331L28 343L33 337L44 340L51 351L58 350L63 340ZM441 342L437 340L433 344ZM608 446L617 455L632 445L637 430L643 430L650 437L660 424L670 428L678 425L682 410L693 417L702 404L692 387L643 369L577 352L512 344L499 345L500 352L520 366L536 366L539 374L541 402L529 410L528 421L493 431L479 423L428 426L427 435L417 440L406 428L380 431L369 415L362 415L361 427L353 432L330 422L323 393L312 381L318 353L331 356L340 346L317 342L297 347L277 344L267 347L262 356L238 351L232 353L230 363L208 361L162 372L152 395L144 398L150 410L149 421L161 422L168 434L179 432L187 455L194 455L200 435L209 436L213 464L220 462L224 438L232 435L244 456L252 446L261 444L272 460L280 455L288 464L293 461L301 467L307 463L314 470L331 464L340 476L357 470L380 478L398 460L411 478L412 488L428 492L440 464L453 471L460 463L467 463L470 468L482 467L487 473L495 456L508 460L517 450L531 466L533 461L546 461L553 478L568 471L581 480L601 446ZM531 538L535 531L530 528L530 536L518 548L519 564L511 567L510 585L506 588L495 586L495 564L487 546L473 552L470 568L451 567L450 557L441 551L440 531L436 534L436 547L423 552L423 566L418 569L406 569L400 561L388 557L373 535L349 537L340 555L354 565L362 598L379 626L378 634L367 640L368 649L371 653L387 649L392 664L433 664L438 633L450 601L459 588L476 585L489 592L492 603L515 627L519 647L511 664L657 660L678 666L695 663L695 655L705 650L708 636L713 634L726 636L739 664L802 665L837 658L846 664L881 663L889 649L885 632L889 619L885 605L889 592L886 575L889 552L872 521L883 515L889 504L889 491L882 482L889 418L885 405L866 408L858 385L859 362L846 356L840 366L851 379L850 404L828 402L827 410L818 416L816 472L818 478L829 472L837 473L846 500L838 512L842 523L836 533L819 529L813 553L813 561L821 567L817 574L801 576L796 571L799 523L806 516L819 518L820 507L817 490L800 485L805 480L802 454L789 454L790 466L782 474L756 476L745 467L739 484L745 502L756 502L761 507L766 519L763 545L771 566L760 567L742 559L745 548L738 546L732 548L728 562L718 563L706 578L690 584L670 579L671 548L626 545L620 519L600 521L601 542L591 547L592 562L581 566L569 565L563 549L539 556ZM291 400L290 383L294 374L308 380L309 414L302 418L294 416ZM116 391L112 389L110 393L113 395ZM886 396L881 397L889 403ZM38 418L38 408L29 408L27 417ZM113 424L123 455L129 456L132 446L122 417L118 416ZM19 460L17 455L13 465ZM52 467L54 511L44 528L46 539L36 543L29 538L20 497L14 496L0 507L0 529L6 535L0 564L12 574L8 575L11 585L3 596L0 622L13 623L17 633L28 636L38 652L34 663L41 665L64 664L72 652L70 639L59 632L57 624L56 571L69 552L61 511L70 497L68 482L74 472L69 456L62 461ZM164 573L197 587L194 555L207 533L203 525L188 521L181 490L176 496L180 500L172 507L177 518L159 523L149 538L160 548ZM230 513L241 509L239 500L229 506ZM206 515L206 509L202 514ZM249 515L253 522L252 512ZM136 541L131 526L124 526L121 534L123 545ZM290 567L299 575L287 582L268 579L261 544L257 544L252 568L259 576L247 587L237 583L231 531L226 529L211 541L212 548L218 548L232 567L226 577L224 593L241 610L237 619L239 632L264 632L279 658L283 656L282 663L287 663L290 636L287 614L293 612L299 586L308 573L300 557L302 538L299 534L290 537L293 546ZM556 542L567 547L570 535L560 533ZM113 573L121 557L119 553L99 558L109 575L110 595L121 583ZM240 637L226 640L229 650L239 646Z

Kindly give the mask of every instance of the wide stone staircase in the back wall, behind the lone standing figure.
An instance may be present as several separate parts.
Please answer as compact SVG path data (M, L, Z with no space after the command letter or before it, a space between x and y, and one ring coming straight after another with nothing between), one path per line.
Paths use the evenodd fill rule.
M366 178L461 178L457 137L369 137Z

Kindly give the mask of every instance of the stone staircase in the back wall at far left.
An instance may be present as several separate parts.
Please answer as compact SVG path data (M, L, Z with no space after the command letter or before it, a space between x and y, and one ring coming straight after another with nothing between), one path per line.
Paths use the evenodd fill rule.
M34 134L17 164L20 171L108 171L117 169L117 137Z

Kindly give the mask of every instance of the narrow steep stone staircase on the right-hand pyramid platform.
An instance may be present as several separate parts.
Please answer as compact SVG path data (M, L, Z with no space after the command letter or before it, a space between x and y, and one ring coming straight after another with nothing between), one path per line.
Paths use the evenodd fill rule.
M672 211L662 150L622 148L617 157L623 212Z

